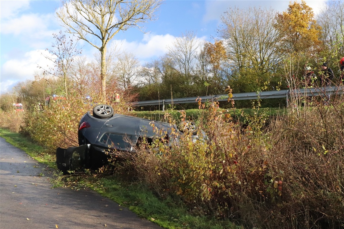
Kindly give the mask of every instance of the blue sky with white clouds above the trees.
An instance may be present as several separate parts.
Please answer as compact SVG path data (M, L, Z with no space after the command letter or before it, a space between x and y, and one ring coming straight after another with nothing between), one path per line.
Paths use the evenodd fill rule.
M307 0L314 12L324 0ZM145 23L145 34L131 28L114 37L122 49L139 60L149 61L167 51L175 37L193 31L200 40L213 42L220 16L229 7L271 7L279 12L288 8L289 0L165 0L158 19ZM58 24L55 12L60 1L55 0L0 0L0 93L10 91L18 82L34 79L39 74L37 65L48 62L41 55L54 42L53 33L64 28ZM93 57L98 50L81 43L83 55Z

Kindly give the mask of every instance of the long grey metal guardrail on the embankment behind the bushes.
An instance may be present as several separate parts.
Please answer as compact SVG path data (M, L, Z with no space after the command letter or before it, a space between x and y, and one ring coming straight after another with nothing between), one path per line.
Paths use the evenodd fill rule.
M286 98L288 101L291 95L301 96L316 96L316 95L328 95L328 94L342 94L344 95L344 86L332 86L322 88L300 88L294 90L279 90L279 91L261 91L257 92L245 92L233 94L233 100L252 100L252 99L273 99L273 98ZM138 101L133 103L133 106L148 106L148 105L166 105L166 104L178 104L178 103L192 103L196 102L196 99L201 98L202 101L227 101L228 94L221 95L207 95L199 97L187 97L176 99L163 99L163 100L150 100L150 101Z

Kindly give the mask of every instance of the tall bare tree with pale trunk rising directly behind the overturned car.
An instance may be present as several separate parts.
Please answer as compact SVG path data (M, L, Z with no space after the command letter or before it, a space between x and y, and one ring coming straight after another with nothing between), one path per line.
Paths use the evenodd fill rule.
M130 27L141 30L140 24L153 19L161 0L62 0L62 4L57 17L67 31L100 51L101 93L105 100L107 44L119 31Z

